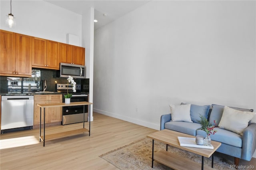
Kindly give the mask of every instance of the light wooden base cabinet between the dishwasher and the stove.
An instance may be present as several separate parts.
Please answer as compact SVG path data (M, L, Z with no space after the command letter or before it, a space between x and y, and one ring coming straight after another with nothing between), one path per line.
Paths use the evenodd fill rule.
M40 107L37 104L62 103L62 95L34 95L34 125L40 124ZM45 123L62 121L62 107L46 108ZM41 115L44 120L43 114Z

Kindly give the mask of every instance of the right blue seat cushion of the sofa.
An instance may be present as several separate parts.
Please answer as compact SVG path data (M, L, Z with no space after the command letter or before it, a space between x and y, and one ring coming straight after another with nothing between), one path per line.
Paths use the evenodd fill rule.
M210 138L212 140L242 148L243 137L241 135L222 128L214 129L216 129L217 132L215 134L210 135ZM206 132L203 130L196 130L196 135L202 135L206 137Z

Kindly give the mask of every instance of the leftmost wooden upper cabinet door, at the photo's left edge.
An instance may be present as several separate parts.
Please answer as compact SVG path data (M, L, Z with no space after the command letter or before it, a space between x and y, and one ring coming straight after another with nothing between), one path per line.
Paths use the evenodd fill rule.
M0 30L0 75L15 73L15 33Z

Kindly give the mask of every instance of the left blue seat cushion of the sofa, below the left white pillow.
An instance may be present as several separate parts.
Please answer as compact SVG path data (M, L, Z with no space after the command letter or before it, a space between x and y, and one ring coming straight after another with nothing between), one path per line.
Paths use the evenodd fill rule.
M200 128L201 126L198 123L191 122L166 122L164 127L177 132L196 136L196 129Z

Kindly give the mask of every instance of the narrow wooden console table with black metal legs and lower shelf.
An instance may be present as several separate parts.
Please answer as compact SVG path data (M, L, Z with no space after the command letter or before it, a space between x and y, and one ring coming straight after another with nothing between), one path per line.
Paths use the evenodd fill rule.
M86 101L80 101L80 102L71 102L70 104L65 104L65 103L47 103L47 104L37 104L38 107L40 107L40 135L39 135L39 141L41 142L45 140L50 140L52 138L58 138L58 137L62 137L62 136L67 136L70 134L77 134L77 133L82 133L82 132L89 132L89 136L90 136L90 126L91 126L91 122L90 122L90 105L92 105L93 103L90 102L86 102ZM89 107L89 129L87 128L79 128L79 129L75 129L75 130L69 130L69 131L65 131L65 132L59 132L59 133L55 133L55 134L47 134L45 135L45 108L49 108L49 107L64 107L64 106L84 106L84 105L88 105ZM44 108L44 133L43 135L41 135L41 114L42 114L42 108ZM85 113L84 113L85 114Z

